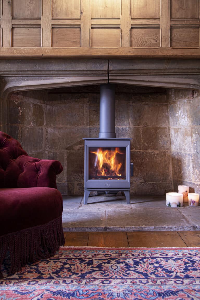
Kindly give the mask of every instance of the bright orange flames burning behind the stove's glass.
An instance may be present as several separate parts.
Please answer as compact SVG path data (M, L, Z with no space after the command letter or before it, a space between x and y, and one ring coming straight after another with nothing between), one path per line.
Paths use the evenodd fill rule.
M120 152L119 148L115 148L114 150L103 150L102 148L98 148L97 152L91 152L97 155L95 166L98 169L99 176L106 175L117 175L121 176L119 170L122 166L122 163L118 163L116 154L124 154L124 152Z

